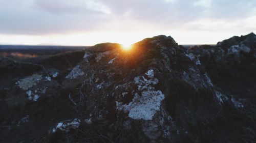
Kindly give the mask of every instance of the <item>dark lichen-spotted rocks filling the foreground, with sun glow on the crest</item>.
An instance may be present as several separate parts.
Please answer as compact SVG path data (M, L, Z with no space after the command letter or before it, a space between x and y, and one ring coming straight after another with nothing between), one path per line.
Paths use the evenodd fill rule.
M0 139L255 141L256 83L249 80L255 79L254 74L247 75L256 73L255 47L254 34L190 49L178 47L170 36L156 36L130 50L119 44L95 45L72 69L40 60L37 64L48 66L12 76L0 87ZM0 68L8 69L12 62ZM16 64L20 66L14 67L15 72L23 73L26 64ZM223 78L220 71L226 69L237 78ZM3 73L1 80L8 81L9 74Z

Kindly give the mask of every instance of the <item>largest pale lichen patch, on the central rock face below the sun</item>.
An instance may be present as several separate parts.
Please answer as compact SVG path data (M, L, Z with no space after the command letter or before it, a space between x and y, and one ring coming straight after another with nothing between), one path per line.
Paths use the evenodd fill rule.
M160 110L161 101L164 99L162 92L156 91L153 87L158 83L158 79L154 77L154 70L149 70L146 75L150 79L144 76L134 78L141 96L135 93L133 101L128 105L120 105L117 102L117 109L129 112L129 117L132 119L152 120L156 112Z

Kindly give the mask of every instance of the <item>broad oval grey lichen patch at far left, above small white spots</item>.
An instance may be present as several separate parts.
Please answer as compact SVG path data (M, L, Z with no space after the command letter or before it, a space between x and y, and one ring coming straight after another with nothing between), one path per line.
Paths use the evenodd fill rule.
M18 82L16 82L16 84L20 89L28 90L29 88L32 88L34 85L36 85L36 83L41 79L42 75L33 74L31 76L19 80Z

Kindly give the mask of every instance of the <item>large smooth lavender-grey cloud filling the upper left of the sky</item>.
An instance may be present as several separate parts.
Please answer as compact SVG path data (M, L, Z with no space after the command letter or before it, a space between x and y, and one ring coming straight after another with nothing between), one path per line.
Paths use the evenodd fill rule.
M71 2L0 0L0 33L40 35L85 32L98 30L108 20L110 11L100 3L77 1L71 5Z

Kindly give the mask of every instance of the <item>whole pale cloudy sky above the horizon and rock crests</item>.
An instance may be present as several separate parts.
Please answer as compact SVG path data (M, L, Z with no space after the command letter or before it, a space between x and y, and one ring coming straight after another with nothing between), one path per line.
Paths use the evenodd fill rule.
M0 44L216 44L256 32L256 0L0 0Z

